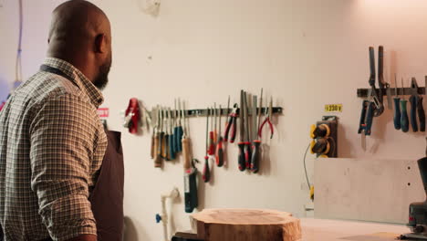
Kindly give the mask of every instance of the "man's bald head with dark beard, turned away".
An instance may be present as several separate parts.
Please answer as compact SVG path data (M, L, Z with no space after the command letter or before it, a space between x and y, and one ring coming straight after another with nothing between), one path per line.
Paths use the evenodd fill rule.
M99 89L107 84L111 28L98 6L83 0L58 5L52 14L48 43L48 56L68 61Z

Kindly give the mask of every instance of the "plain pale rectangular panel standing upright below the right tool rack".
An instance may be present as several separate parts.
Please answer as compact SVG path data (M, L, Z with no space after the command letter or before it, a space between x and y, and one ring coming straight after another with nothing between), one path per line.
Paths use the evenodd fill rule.
M315 217L406 224L423 200L416 160L315 161Z

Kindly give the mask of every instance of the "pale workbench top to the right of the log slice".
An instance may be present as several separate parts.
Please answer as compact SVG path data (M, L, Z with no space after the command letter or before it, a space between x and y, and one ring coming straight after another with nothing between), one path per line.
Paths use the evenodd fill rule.
M302 241L391 241L410 232L405 225L301 218Z

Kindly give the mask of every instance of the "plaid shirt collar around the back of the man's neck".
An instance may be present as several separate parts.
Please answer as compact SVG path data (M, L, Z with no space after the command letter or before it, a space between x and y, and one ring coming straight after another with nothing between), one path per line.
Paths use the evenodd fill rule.
M75 68L67 61L59 58L48 57L45 59L44 64L52 68L57 68L66 74L75 84L78 85L80 90L84 91L89 96L90 101L97 108L104 101L104 97L100 90L95 87L93 83L80 70L78 70L78 68Z

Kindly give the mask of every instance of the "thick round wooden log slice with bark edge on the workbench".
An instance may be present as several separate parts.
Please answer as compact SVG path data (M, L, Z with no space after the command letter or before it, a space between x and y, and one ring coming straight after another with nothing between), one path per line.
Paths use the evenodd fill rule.
M205 209L191 216L193 230L205 241L297 241L299 219L259 209Z

